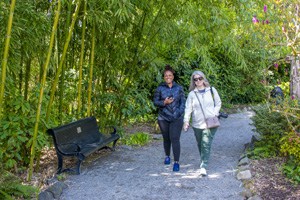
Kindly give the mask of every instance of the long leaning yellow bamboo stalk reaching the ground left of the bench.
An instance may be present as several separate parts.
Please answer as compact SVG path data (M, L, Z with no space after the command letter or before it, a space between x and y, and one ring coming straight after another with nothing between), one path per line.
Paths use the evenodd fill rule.
M56 11L55 19L53 22L53 28L52 28L52 33L51 33L51 38L50 38L50 43L49 43L49 50L48 50L46 62L44 64L43 78L42 78L40 94L39 94L39 101L38 101L38 107L37 107L37 113L36 113L36 121L35 121L35 126L34 126L33 140L32 140L31 152L30 152L29 173L27 176L28 181L31 180L32 173L33 173L33 161L34 161L34 156L35 156L35 146L37 143L38 126L39 126L39 121L40 121L40 113L41 113L41 107L42 107L42 101L43 101L44 87L45 87L45 83L46 83L47 69L48 69L48 66L50 63L51 53L52 53L54 39L55 39L55 33L56 33L58 20L59 20L59 14L60 14L60 10L61 10L61 0L57 0L57 2L58 2L57 11Z

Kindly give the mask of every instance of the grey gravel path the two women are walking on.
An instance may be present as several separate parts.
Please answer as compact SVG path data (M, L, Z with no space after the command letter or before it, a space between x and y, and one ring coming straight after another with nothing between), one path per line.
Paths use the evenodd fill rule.
M208 176L200 177L199 153L192 129L182 132L180 171L163 164L162 140L141 148L118 146L97 160L82 165L81 175L70 175L60 199L243 199L242 182L235 176L244 144L253 135L253 113L222 119L211 150Z

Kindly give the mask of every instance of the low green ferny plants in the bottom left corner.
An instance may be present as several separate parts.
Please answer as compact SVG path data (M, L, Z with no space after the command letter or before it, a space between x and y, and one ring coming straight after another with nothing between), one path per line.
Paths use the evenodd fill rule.
M22 184L12 173L0 169L0 199L35 199L38 189Z

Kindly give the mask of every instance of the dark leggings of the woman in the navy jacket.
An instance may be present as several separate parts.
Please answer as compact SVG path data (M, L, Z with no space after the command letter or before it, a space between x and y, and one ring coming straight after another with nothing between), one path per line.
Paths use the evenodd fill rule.
M158 120L158 125L164 139L164 150L166 156L170 156L171 146L174 161L179 161L180 157L180 135L183 126L183 118L169 122L166 120Z

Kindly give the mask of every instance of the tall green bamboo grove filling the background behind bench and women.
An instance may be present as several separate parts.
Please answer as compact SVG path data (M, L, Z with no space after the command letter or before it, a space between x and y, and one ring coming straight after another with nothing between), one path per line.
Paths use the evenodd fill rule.
M201 69L225 103L262 101L265 70L288 52L286 45L268 46L284 39L280 26L258 29L251 22L264 3L2 0L4 167L29 166L30 179L50 145L47 128L91 115L101 126L122 125L155 112L152 94L165 64L186 87ZM275 10L270 20L284 23Z

